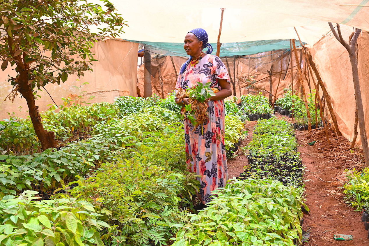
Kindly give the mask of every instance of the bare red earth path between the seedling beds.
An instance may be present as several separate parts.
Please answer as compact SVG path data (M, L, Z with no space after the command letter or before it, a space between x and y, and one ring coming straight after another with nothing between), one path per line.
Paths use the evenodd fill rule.
M280 119L291 120L287 116L278 116ZM249 135L242 141L241 146L246 146L252 140L252 131L256 122L245 124ZM318 153L318 147L310 146L314 140L324 144L324 139L310 139L306 136L307 131L296 131L299 143L298 151L301 153L305 167L304 185L306 204L310 209L309 214L304 214L303 230L310 232L310 239L305 246L345 245L345 246L368 246L368 231L360 222L361 212L354 211L345 204L342 194L342 181L344 171L339 169L342 163L337 165L335 160L328 158L324 153ZM322 143L323 142L323 143ZM320 151L321 152L321 151ZM248 165L246 156L241 150L238 156L228 161L228 176L238 177L244 166ZM345 166L346 168L347 166ZM353 235L350 241L337 241L333 239L335 234Z

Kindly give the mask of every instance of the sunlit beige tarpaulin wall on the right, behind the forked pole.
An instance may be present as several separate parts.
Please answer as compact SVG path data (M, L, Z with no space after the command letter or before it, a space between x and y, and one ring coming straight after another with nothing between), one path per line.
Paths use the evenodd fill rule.
M352 28L341 26L342 37L348 40ZM363 31L358 39L359 79L365 112L366 131L369 132L369 34ZM332 99L337 123L342 135L352 141L355 122L355 96L352 69L348 52L333 36L327 34L309 48ZM359 131L359 129L358 129ZM357 143L360 141L360 132Z

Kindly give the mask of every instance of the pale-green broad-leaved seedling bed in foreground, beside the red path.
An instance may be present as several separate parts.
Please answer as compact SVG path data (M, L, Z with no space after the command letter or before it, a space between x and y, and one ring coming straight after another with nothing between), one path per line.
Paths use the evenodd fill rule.
M231 180L176 234L172 246L295 245L301 239L300 192L273 180Z

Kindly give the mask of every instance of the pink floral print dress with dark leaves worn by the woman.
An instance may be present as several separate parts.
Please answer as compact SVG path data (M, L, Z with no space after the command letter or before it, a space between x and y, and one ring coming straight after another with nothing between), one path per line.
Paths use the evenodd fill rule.
M227 69L219 57L206 54L199 63L188 65L182 75L178 76L176 88L192 88L197 81L206 84L211 81L211 88L222 88L218 79L229 82ZM182 108L184 110L184 107ZM228 180L227 157L224 145L224 100L208 102L208 122L196 127L184 119L184 138L186 140L187 168L196 174L200 181L200 195L203 203L211 200L211 191L224 187Z

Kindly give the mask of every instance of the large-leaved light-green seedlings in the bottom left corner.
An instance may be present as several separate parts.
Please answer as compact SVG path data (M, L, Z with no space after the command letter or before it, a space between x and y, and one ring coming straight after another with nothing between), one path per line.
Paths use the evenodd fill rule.
M0 201L0 245L104 245L98 231L110 226L91 204L75 198L33 201L37 193Z

